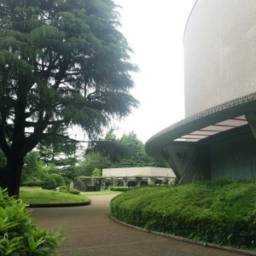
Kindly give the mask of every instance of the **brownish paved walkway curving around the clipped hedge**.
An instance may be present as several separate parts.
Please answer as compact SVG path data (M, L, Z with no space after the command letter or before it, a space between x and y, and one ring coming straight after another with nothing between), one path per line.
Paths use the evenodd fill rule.
M114 195L90 196L85 207L33 208L32 218L40 228L65 230L64 256L78 255L241 255L183 241L156 236L118 224L108 217L109 201Z

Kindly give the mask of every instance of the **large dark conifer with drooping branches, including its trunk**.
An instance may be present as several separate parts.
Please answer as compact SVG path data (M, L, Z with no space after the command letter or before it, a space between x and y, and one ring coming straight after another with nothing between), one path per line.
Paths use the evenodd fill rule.
M112 0L0 0L0 184L19 195L23 159L52 125L90 138L137 107Z

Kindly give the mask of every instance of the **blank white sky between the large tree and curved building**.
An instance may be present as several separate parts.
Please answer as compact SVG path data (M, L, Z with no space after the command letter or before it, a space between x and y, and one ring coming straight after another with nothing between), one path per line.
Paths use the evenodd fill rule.
M131 95L140 107L121 121L118 136L134 131L144 143L184 118L183 32L195 0L114 0L121 32L140 68Z

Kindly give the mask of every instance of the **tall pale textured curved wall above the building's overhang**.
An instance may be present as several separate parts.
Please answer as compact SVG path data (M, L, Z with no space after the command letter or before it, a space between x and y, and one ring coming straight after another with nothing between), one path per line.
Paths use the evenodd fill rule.
M184 34L185 116L255 91L256 1L198 0Z

